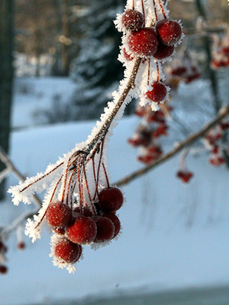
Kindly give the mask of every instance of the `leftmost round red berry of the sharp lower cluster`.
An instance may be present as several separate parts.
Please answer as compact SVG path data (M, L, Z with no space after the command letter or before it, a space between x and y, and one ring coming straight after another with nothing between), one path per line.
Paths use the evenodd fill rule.
M51 202L47 208L47 223L53 227L65 227L72 218L72 211L69 206L61 201Z

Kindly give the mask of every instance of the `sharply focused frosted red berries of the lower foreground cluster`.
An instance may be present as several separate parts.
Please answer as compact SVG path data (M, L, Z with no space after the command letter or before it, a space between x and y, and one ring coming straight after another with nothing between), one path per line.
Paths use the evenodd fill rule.
M52 201L46 211L47 223L54 231L51 256L58 264L76 263L82 255L82 244L109 242L120 232L116 211L123 205L123 194L117 187L99 192L92 206L70 208L62 201Z

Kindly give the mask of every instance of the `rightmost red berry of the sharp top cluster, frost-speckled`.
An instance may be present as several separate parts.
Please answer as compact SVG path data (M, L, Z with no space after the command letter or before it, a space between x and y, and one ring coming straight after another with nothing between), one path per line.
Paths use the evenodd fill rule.
M177 21L163 19L156 23L156 31L163 44L171 46L180 40L182 28Z

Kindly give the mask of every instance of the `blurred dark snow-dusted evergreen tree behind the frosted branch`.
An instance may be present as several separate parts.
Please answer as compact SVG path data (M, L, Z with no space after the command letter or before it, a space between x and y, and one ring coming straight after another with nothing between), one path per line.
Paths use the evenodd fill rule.
M73 72L77 83L73 97L78 109L76 119L99 118L123 77L123 67L117 60L120 35L113 20L124 5L124 0L89 1L87 15L82 18L87 32L81 39Z

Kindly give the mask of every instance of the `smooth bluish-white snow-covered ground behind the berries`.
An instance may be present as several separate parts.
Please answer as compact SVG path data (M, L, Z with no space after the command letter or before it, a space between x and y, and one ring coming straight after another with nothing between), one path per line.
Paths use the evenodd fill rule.
M69 85L66 80L62 89L54 87L64 95L70 94ZM42 103L44 97L49 97L49 103L51 90L42 90ZM14 127L30 126L13 132L11 137L12 161L24 175L44 171L75 143L85 141L95 124L90 121L37 127L30 117L30 106L35 101L23 104L19 95L16 101ZM137 122L135 116L123 118L113 132L109 144L113 182L141 167L135 161L137 151L127 143ZM187 165L194 172L188 185L175 177L176 156L123 186L126 201L118 213L122 235L97 251L84 247L84 259L77 263L75 274L52 265L49 232L44 232L35 244L25 237L24 251L16 249L13 236L8 244L9 271L0 278L1 305L61 304L62 299L79 301L229 285L229 171L209 166L206 155L190 156ZM8 185L16 183L14 178L8 181ZM30 206L13 206L9 197L0 206L0 223L10 223L27 208Z

